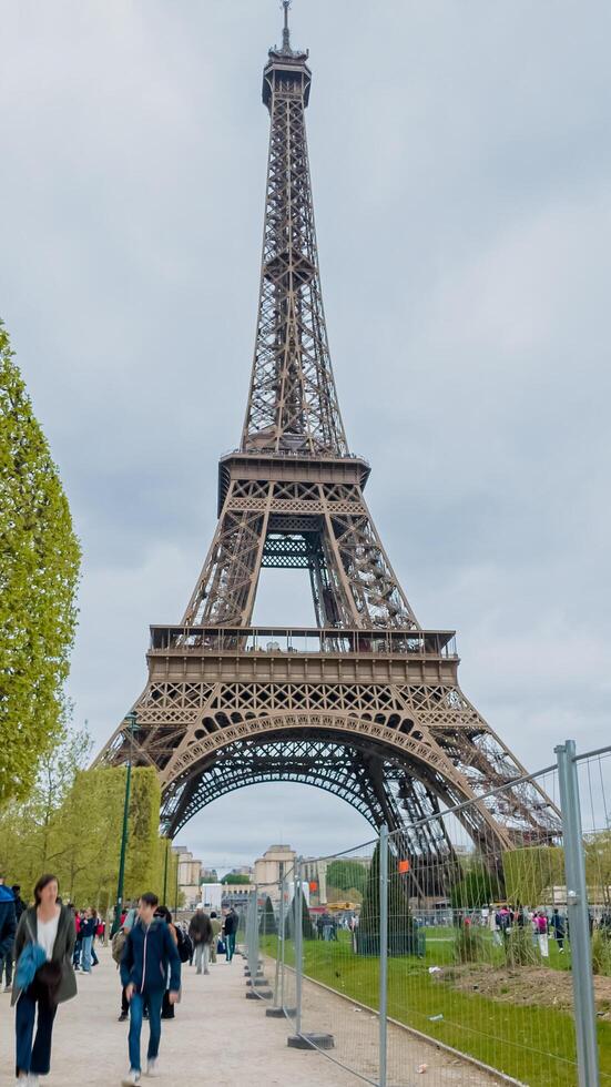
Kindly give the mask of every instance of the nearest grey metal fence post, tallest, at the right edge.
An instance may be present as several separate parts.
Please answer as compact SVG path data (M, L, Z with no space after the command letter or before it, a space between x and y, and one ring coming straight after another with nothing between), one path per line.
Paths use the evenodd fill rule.
M579 1084L580 1087L599 1087L597 1013L574 740L567 740L554 750L558 756L564 837L567 914L571 944Z

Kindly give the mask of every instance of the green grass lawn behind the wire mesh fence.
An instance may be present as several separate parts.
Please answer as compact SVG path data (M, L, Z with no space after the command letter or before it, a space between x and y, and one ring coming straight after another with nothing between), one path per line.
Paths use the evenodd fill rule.
M483 1060L529 1087L576 1087L572 1016L553 1007L537 1006L536 993L532 1004L517 1006L481 996L477 992L462 992L454 988L451 983L438 981L428 973L428 967L452 962L452 929L435 928L429 932L425 961L411 957L388 961L389 1015L432 1039ZM305 973L352 999L377 1008L378 961L355 955L349 934L340 933L339 936L336 943L304 943ZM264 937L262 949L275 955L276 939ZM502 949L491 946L490 951L495 957L497 951L500 952L501 965ZM553 952L559 962L549 965L566 968L563 956L558 955L556 946ZM286 961L289 965L293 961L293 947L288 942ZM430 1017L437 1015L441 1015L442 1019L431 1022ZM599 1023L599 1046L602 1083L611 1084L609 1023Z

